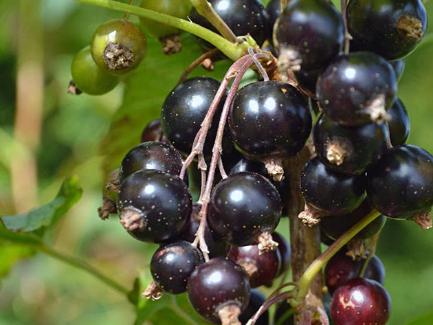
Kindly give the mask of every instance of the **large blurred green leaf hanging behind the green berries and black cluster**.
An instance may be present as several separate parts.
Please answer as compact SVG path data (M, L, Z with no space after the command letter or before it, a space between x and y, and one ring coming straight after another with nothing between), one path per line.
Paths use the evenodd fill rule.
M181 36L182 50L166 56L161 53L161 45L153 38L148 39L148 52L144 62L126 78L123 104L113 116L107 136L100 144L105 155L104 175L120 166L126 153L140 144L140 135L144 126L159 117L162 104L168 93L176 86L181 74L202 52L195 38L190 34ZM221 80L230 60L221 60L215 64L213 72L197 67L192 76L210 76Z

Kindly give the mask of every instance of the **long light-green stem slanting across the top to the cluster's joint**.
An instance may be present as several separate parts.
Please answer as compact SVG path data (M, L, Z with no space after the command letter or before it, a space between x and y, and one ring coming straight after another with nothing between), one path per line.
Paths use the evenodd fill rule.
M177 17L169 16L168 14L162 14L153 10L144 9L135 5L129 5L113 0L74 0L81 3L87 3L89 5L98 5L102 8L125 12L127 14L135 14L158 23L164 23L172 27L179 28L195 36L203 38L203 40L212 43L215 47L219 48L223 54L228 56L232 60L237 60L241 56L245 55L248 50L248 44L243 42L241 44L232 43L227 41L223 36L216 34L205 27L201 27L196 23L186 21Z

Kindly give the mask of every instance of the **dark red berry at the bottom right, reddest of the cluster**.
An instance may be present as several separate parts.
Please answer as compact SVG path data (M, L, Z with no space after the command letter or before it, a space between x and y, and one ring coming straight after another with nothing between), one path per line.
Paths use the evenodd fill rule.
M335 325L384 325L391 312L388 292L375 280L355 278L339 287L331 300Z

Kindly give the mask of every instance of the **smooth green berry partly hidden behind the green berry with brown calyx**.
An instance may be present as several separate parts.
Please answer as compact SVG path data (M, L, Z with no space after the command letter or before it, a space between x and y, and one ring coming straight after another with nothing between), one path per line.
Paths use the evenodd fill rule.
M71 75L76 87L89 95L108 93L120 82L120 78L107 74L96 65L89 46L81 49L72 60Z

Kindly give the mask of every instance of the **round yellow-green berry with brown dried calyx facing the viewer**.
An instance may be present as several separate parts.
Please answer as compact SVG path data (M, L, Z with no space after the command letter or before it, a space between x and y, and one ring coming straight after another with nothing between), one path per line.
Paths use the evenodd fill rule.
M115 46L114 52L123 52L118 59L107 56L111 45ZM147 41L140 28L131 21L112 19L93 33L90 49L98 67L109 74L122 76L140 65L147 52Z

